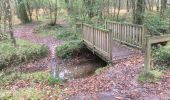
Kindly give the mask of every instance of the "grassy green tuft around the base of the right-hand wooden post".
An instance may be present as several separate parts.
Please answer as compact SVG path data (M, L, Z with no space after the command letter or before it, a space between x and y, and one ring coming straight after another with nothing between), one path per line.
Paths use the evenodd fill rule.
M154 83L159 81L163 73L159 70L152 70L148 73L141 73L138 76L138 81L142 83Z

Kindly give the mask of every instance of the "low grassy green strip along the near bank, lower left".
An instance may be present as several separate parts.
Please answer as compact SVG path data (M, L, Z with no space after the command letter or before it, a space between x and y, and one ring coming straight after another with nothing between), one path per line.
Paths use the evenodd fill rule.
M21 73L17 71L11 71L6 73L4 71L0 72L0 87L10 85L18 80L23 80L28 83L38 83L38 84L61 84L62 81L59 78L53 78L49 72L34 72L34 73Z

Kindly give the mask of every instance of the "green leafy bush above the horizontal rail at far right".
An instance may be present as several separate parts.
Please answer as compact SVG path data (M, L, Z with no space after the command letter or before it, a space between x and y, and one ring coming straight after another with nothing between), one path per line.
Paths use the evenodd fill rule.
M145 14L144 24L151 35L160 35L167 32L169 28L169 18L166 16L162 19L159 13L148 12Z

